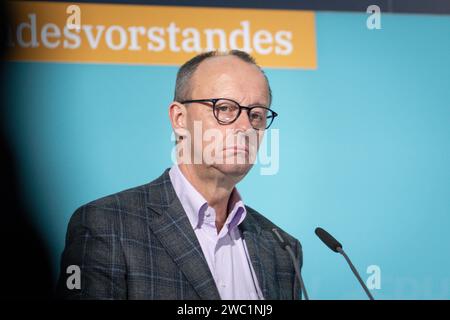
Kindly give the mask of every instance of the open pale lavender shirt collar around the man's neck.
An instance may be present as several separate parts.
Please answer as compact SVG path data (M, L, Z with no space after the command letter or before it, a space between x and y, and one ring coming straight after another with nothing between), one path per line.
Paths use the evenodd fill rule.
M192 228L196 229L201 227L205 220L205 211L209 208L205 198L186 179L177 164L174 164L169 170L169 176ZM241 195L236 187L231 192L228 203L228 207L231 210L228 213L225 226L228 230L232 230L244 220L247 214ZM209 210L214 211L213 208L209 208Z

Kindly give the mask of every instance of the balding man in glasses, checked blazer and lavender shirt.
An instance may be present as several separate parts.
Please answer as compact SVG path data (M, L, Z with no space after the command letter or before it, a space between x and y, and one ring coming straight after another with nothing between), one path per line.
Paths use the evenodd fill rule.
M299 299L293 262L272 233L277 227L244 205L235 187L277 115L270 103L265 74L242 51L208 52L186 62L169 106L177 164L149 184L74 213L60 295ZM300 243L279 232L301 267ZM70 265L80 268L79 289L67 286Z

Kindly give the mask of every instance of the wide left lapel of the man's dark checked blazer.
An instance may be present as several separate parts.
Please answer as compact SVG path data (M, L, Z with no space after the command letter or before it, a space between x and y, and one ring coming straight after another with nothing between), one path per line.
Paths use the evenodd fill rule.
M200 243L175 194L168 170L150 185L148 220L155 236L192 284L201 299L219 300L220 294Z

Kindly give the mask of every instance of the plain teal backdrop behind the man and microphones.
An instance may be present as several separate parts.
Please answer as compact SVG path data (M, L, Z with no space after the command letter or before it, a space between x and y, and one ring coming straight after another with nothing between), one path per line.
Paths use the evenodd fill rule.
M338 238L378 299L450 298L450 17L316 14L317 70L268 69L280 169L255 167L244 201L303 244L313 299L365 299ZM171 165L177 67L8 63L7 130L55 278L80 205Z

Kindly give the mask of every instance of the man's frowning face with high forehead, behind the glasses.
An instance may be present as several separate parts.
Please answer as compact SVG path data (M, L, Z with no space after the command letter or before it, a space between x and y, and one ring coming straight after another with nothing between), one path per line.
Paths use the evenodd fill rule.
M189 98L228 98L242 106L269 105L267 82L261 71L234 56L202 62L191 79ZM218 123L212 103L191 103L186 110L192 154L202 159L199 169L212 167L224 175L242 179L254 163L264 130L252 127L246 110L231 124ZM198 143L198 139L202 139L202 143Z

